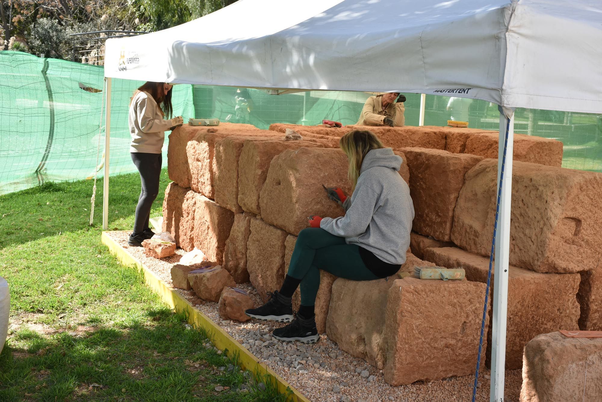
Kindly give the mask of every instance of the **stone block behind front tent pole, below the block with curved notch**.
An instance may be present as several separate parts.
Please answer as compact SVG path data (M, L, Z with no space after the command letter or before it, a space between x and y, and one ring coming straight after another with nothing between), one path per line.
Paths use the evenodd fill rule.
M468 280L487 283L489 258L457 247L427 249L424 258L440 267L464 268ZM494 279L492 274L490 302ZM533 336L561 329L577 329L579 280L579 274L542 274L510 265L506 324L508 370L521 368L524 345ZM491 326L489 328L487 364L491 361Z

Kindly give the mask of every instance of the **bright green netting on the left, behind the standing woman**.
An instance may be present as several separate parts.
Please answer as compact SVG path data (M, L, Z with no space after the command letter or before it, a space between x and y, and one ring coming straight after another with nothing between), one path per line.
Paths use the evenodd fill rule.
M111 175L135 172L128 106L142 83L113 79ZM102 67L0 52L0 194L94 175L103 85ZM176 115L193 117L190 85L174 87L173 109ZM104 132L100 161L103 151Z

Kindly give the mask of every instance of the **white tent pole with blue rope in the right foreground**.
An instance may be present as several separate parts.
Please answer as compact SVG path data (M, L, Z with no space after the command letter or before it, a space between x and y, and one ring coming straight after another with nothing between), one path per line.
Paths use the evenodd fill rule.
M491 392L490 402L504 401L504 370L506 365L506 314L508 304L508 264L510 250L510 201L512 197L512 149L514 144L514 113L510 119L500 110L500 137L498 146L497 184L500 188L500 173L504 161L504 140L508 128L508 143L501 187L500 211L497 218L495 237L495 268L493 287Z

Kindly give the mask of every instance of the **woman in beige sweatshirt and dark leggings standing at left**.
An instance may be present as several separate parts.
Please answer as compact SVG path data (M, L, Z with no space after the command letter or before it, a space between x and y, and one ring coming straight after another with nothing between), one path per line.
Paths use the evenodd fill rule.
M136 206L134 230L129 236L130 246L141 246L142 241L155 233L149 227L151 207L159 193L161 175L161 148L165 132L182 124L182 116L172 116L172 85L165 82L145 82L134 92L129 104L129 134L132 137L129 152L140 172L142 190Z

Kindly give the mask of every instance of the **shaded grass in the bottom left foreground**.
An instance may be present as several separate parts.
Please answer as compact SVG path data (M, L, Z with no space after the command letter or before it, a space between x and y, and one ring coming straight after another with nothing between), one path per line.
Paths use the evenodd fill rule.
M0 400L284 402L235 360L205 347L205 333L185 326L185 315L167 308L146 315L49 337L21 330L0 354Z

